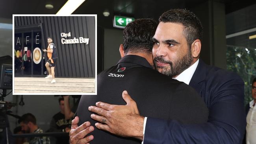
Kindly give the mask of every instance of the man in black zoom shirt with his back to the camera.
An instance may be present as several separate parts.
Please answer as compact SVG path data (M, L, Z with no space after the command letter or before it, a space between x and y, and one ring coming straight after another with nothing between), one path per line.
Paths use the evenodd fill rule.
M82 96L77 110L78 125L92 121L92 113L87 109L98 101L129 104L119 96L124 89L133 95L140 113L145 116L173 119L182 124L207 122L208 109L194 89L152 68L152 37L156 27L157 23L151 19L137 19L126 26L119 49L122 59L98 74L97 96ZM135 138L117 137L98 129L91 134L94 136L91 143L95 144L141 143Z

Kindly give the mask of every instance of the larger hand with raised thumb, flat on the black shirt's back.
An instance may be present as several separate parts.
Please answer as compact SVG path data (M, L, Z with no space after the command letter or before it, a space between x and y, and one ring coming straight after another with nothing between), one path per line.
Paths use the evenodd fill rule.
M99 114L91 114L91 118L101 122L95 124L98 129L123 137L143 140L144 117L139 115L136 102L126 90L122 93L122 98L127 103L126 105L97 102L96 107L90 106L89 111Z

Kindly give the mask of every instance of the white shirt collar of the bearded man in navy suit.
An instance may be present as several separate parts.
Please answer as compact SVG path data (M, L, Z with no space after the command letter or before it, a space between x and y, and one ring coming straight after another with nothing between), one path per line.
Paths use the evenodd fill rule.
M177 79L178 81L182 81L188 85L197 68L198 62L199 62L199 59L197 59L197 61L193 65L189 66L189 68L184 70L181 74L179 74L174 79Z

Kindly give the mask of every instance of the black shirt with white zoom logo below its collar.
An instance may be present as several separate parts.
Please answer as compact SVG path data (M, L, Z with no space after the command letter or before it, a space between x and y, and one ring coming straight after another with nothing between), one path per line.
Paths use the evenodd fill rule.
M125 105L123 90L132 96L143 116L176 119L184 124L204 123L208 119L208 109L193 88L153 70L143 57L126 55L116 66L98 74L97 96L82 96L77 110L79 125L85 121L95 124L88 107L98 101ZM98 129L91 134L95 138L90 144L141 143L134 138L117 137Z

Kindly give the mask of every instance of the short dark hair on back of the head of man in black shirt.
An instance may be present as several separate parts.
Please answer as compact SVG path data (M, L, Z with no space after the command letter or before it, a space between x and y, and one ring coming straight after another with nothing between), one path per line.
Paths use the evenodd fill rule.
M127 52L145 52L152 53L152 37L156 32L158 23L149 18L136 19L130 22L123 31L124 53Z

